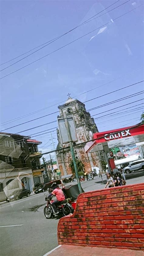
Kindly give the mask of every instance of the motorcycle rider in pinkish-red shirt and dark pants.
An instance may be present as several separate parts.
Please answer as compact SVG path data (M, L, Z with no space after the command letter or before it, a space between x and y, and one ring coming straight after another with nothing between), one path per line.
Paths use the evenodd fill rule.
M48 195L48 198L51 197L52 195L55 195L57 197L57 200L52 202L52 206L55 213L58 214L59 211L57 209L57 206L61 205L61 202L65 200L65 196L63 194L62 189L60 189L59 186L56 184L53 184L50 190L51 190L51 193L50 195Z

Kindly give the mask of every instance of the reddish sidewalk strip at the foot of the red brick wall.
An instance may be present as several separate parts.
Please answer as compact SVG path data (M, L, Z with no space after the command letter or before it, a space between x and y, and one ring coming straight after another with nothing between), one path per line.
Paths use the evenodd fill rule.
M61 245L43 256L144 256L144 251L106 247Z

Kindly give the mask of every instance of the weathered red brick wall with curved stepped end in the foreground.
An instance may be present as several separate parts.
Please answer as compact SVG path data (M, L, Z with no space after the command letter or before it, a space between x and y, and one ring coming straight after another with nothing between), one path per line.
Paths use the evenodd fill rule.
M59 244L144 250L144 183L79 195L60 219Z

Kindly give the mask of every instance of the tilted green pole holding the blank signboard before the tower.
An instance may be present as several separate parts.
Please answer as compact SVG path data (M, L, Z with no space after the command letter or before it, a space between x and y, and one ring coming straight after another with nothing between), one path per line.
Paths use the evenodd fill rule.
M82 193L81 183L80 183L80 179L78 176L77 163L76 163L76 159L75 159L75 155L74 155L74 148L73 148L73 144L72 144L72 137L71 137L71 133L70 133L70 127L69 127L69 123L67 120L66 112L63 113L63 116L64 116L65 126L67 129L67 135L68 135L69 144L70 144L70 151L71 151L71 155L72 155L72 159L73 159L73 163L74 163L74 170L75 170L75 175L76 175L76 179L77 179L77 185L78 185L79 192Z

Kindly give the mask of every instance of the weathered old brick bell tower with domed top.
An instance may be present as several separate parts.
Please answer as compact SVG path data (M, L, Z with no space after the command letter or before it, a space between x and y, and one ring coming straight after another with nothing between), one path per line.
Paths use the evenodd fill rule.
M84 168L81 171L92 171L95 166L98 166L98 156L95 152L86 154L84 146L85 143L90 140L91 135L98 132L94 119L91 118L90 113L86 111L84 103L77 99L72 99L71 97L67 99L65 104L58 106L58 109L60 112L58 119L63 118L63 113L65 112L67 117L72 117L74 120L75 132L77 136L77 140L73 142L74 154L76 159L81 160L81 162L84 164ZM68 143L63 143L60 129L57 129L57 139L57 149L68 146ZM57 159L61 175L71 174L72 170L69 167L72 160L70 149L63 149L58 152Z

